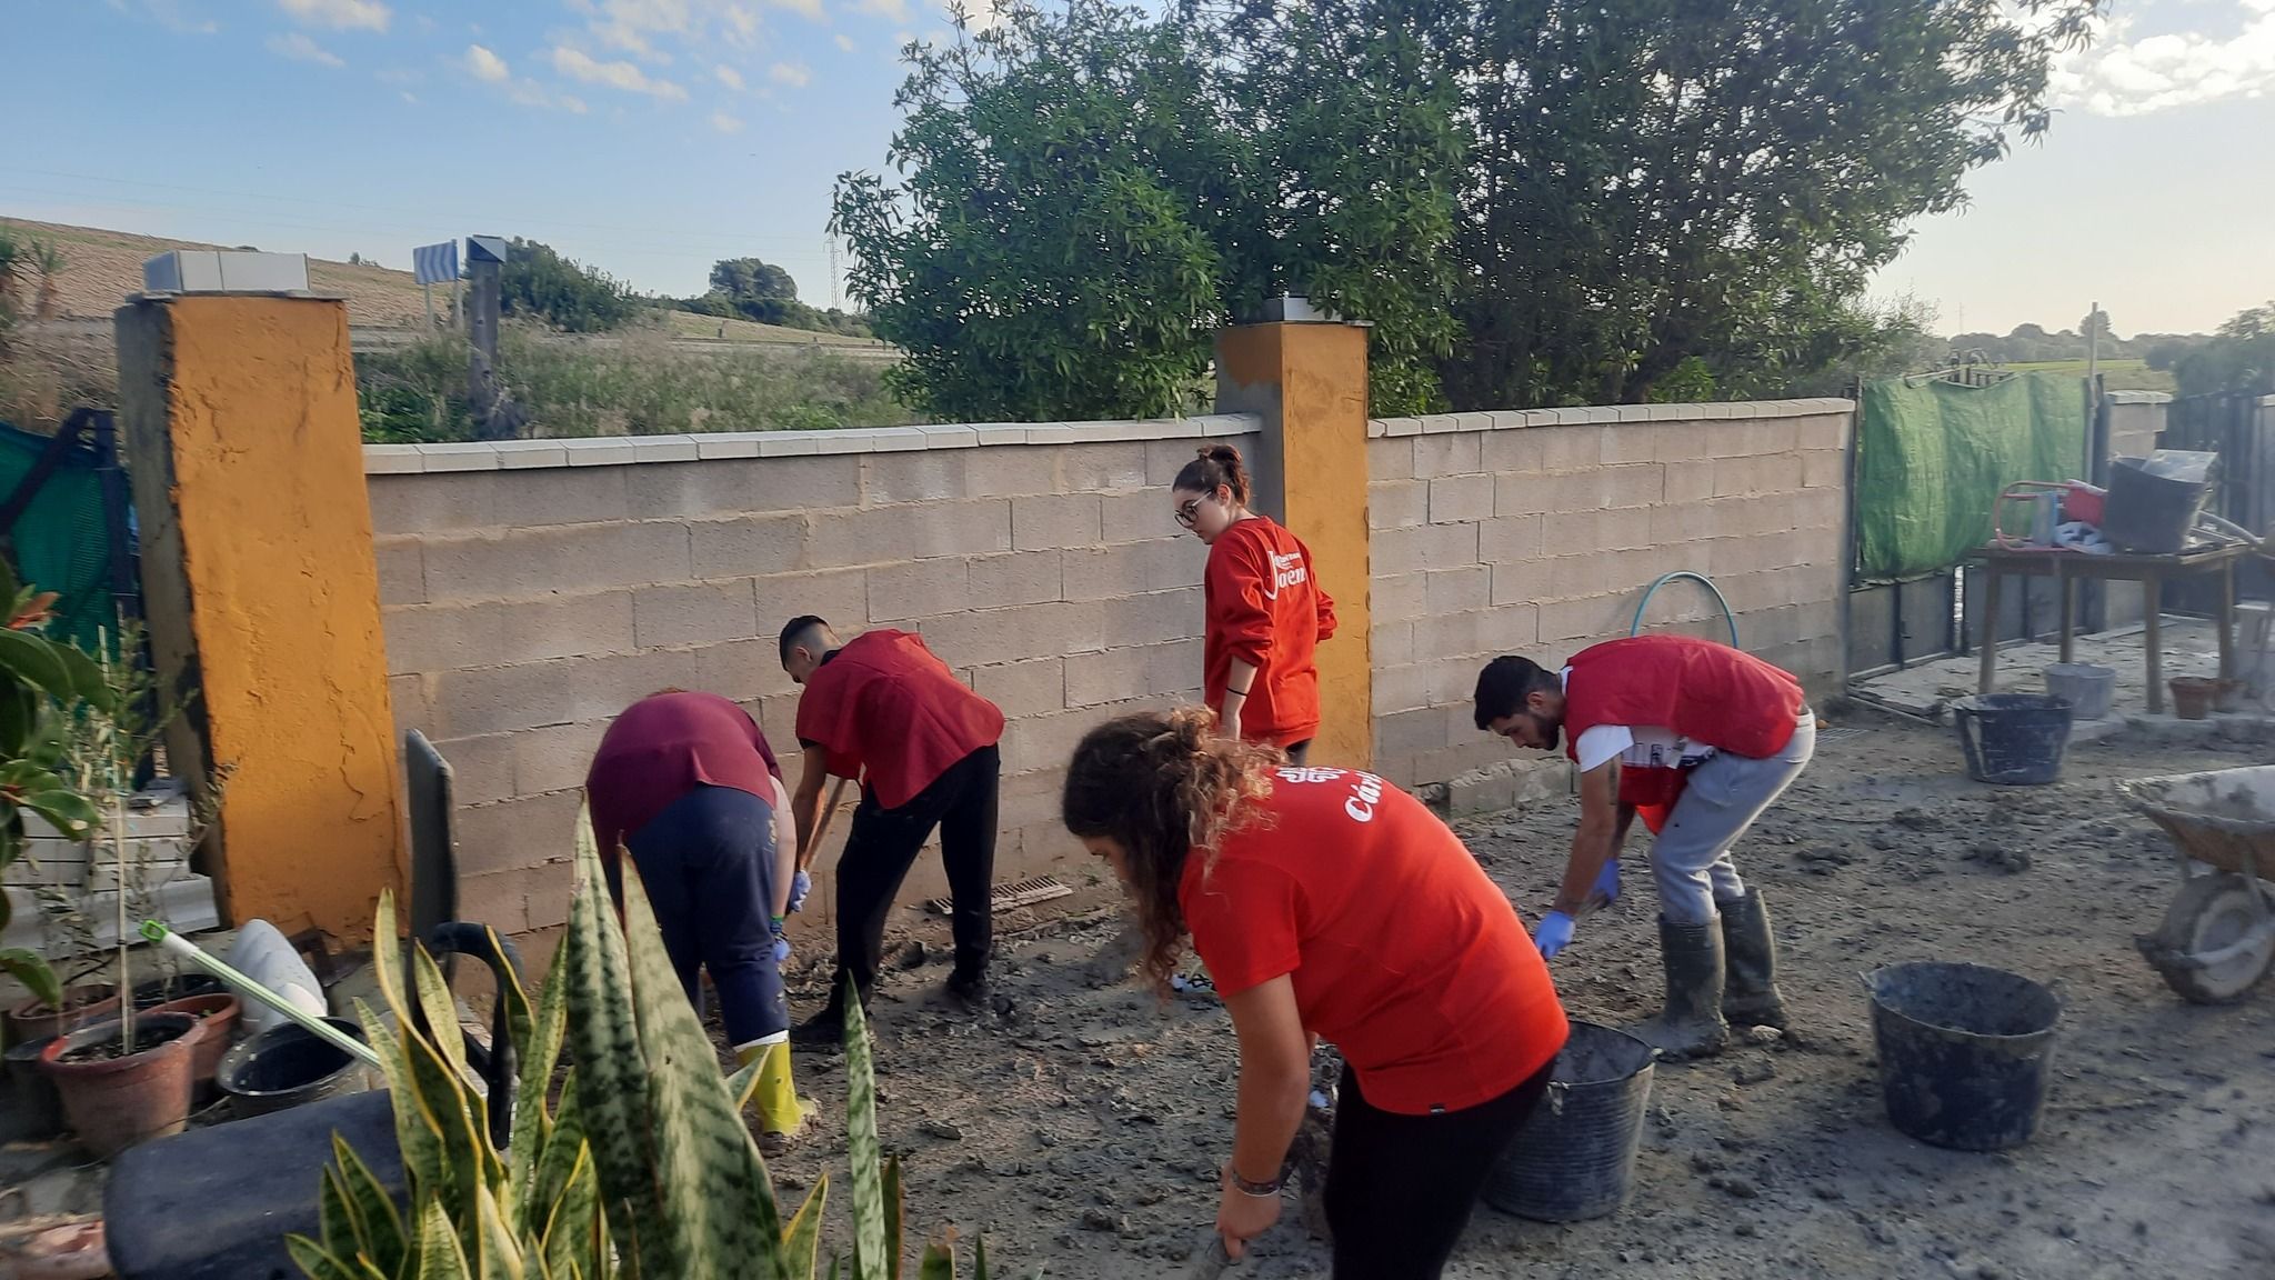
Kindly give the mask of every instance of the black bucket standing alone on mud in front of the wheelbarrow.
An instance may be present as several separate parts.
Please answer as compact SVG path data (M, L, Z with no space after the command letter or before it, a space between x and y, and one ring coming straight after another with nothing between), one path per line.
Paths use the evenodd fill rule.
M1979 963L1893 963L1866 979L1888 1123L1925 1143L2000 1150L2045 1111L2061 1000Z

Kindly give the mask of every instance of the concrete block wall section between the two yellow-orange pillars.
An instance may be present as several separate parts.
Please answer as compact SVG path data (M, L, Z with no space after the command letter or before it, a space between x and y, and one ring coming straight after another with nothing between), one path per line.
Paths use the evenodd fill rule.
M1060 763L1106 715L1199 697L1206 549L1167 485L1256 417L369 446L396 727L457 770L462 913L566 922L607 720L742 701L796 783L780 624L921 631L1010 717L999 879L1081 850ZM837 824L842 838L844 822ZM944 893L937 859L905 897Z

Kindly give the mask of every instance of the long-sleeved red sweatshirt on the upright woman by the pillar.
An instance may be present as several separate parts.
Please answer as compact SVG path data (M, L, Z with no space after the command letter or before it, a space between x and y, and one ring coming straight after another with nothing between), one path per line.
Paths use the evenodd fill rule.
M1310 576L1310 549L1269 517L1242 519L1208 547L1201 579L1206 638L1201 690L1224 711L1233 658L1256 667L1240 736L1292 747L1320 733L1320 640L1335 635L1335 601Z

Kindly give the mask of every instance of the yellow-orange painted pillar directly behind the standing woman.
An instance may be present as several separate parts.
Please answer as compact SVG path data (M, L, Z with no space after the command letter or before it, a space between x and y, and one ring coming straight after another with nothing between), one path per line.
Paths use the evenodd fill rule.
M1374 763L1374 660L1367 563L1367 330L1340 321L1272 321L1217 337L1217 410L1265 419L1258 503L1310 547L1335 599L1335 638L1320 645L1322 765Z

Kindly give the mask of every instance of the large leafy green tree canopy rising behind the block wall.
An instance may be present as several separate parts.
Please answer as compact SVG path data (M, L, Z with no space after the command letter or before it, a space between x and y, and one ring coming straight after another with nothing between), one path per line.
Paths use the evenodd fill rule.
M2095 2L1012 7L908 50L833 225L942 417L1183 408L1281 292L1374 323L1376 412L1756 394L1906 339L1868 276Z

